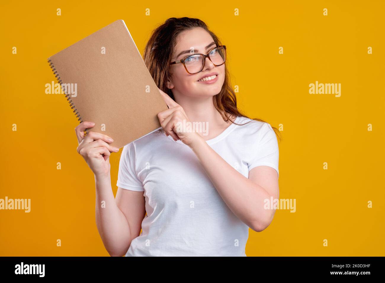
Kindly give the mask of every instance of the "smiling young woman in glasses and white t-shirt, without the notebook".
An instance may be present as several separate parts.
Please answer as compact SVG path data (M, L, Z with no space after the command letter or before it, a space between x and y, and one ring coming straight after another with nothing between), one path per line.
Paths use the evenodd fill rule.
M226 46L201 20L166 20L144 62L169 109L158 114L162 130L123 147L116 198L109 156L119 149L103 134L84 136L91 122L75 129L95 175L105 248L111 256L246 256L249 228L262 231L275 213L264 200L279 197L275 128L237 109Z

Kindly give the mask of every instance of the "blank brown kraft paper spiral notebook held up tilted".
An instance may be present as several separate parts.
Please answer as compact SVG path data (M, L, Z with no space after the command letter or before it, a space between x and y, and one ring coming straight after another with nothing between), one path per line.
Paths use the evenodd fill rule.
M161 128L157 114L168 107L123 20L48 62L78 121L95 122L86 133L106 134L121 148Z

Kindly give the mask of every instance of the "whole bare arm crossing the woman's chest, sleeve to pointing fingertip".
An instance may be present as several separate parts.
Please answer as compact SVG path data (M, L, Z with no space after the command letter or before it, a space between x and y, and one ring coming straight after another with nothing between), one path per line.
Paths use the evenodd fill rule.
M275 214L274 209L264 209L264 200L278 198L278 173L269 166L256 166L246 178L219 154L197 132L181 132L177 125L189 121L181 105L159 89L169 109L159 112L158 119L166 135L181 140L198 157L206 174L229 209L254 231L264 230ZM213 166L212 164L215 164Z

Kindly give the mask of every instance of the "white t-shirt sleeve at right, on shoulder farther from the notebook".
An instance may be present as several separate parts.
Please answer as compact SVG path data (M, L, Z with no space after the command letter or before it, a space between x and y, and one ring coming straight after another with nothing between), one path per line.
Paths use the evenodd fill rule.
M270 166L273 167L278 177L280 172L278 171L279 150L277 136L270 124L264 122L260 129L259 143L256 151L256 155L251 163L248 164L249 171L257 166Z

